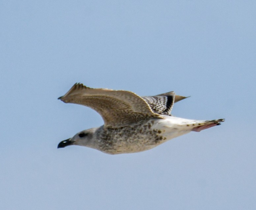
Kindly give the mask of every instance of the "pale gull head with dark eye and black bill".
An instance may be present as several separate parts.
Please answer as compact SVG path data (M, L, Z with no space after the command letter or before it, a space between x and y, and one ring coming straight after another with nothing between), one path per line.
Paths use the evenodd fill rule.
M97 128L91 128L88 130L81 131L77 133L75 136L73 136L70 139L66 139L64 141L61 141L58 144L57 148L64 148L66 146L70 145L80 145L80 146L87 146L87 147L93 147L94 145L94 134Z

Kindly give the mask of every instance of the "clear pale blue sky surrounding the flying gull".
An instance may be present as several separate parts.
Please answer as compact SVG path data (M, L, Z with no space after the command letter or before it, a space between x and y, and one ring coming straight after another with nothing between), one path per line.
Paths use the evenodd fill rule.
M256 209L255 1L0 1L1 209ZM76 82L226 118L154 149L57 144L103 120Z

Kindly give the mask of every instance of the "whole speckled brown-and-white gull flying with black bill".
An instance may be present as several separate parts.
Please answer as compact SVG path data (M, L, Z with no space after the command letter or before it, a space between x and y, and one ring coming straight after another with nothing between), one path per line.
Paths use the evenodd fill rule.
M130 91L88 88L76 83L65 95L65 103L80 104L97 111L104 125L77 133L58 148L80 145L108 154L142 152L170 139L220 125L224 119L192 120L171 115L174 103L187 98L167 92L139 96Z

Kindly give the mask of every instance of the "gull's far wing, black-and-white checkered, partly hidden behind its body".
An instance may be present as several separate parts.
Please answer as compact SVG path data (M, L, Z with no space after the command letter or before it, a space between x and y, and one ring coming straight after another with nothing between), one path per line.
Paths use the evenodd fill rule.
M153 112L160 115L171 116L174 103L187 97L176 95L175 92L172 91L154 96L142 96L142 98L148 103Z

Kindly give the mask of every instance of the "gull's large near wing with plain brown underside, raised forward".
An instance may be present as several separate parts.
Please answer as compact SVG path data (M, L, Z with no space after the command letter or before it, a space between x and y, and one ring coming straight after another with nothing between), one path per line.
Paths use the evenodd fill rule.
M94 109L102 116L105 126L120 127L144 119L162 118L140 96L129 91L88 88L76 83L58 99Z

